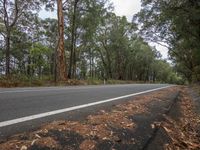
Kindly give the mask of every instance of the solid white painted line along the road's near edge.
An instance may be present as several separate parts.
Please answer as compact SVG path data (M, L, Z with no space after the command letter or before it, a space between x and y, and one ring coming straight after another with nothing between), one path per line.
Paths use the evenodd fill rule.
M83 105L79 105L79 106L64 108L64 109L60 109L60 110L45 112L45 113L41 113L41 114L31 115L31 116L27 116L27 117L17 118L17 119L13 119L13 120L3 121L3 122L0 122L0 127L5 127L5 126L25 122L25 121L30 121L30 120L34 120L34 119L38 119L38 118L56 115L56 114L60 114L60 113L64 113L64 112L68 112L68 111L72 111L72 110L77 110L77 109L81 109L81 108L86 108L86 107L94 106L94 105L98 105L98 104L103 104L103 103L107 103L107 102L111 102L111 101L116 101L116 100L120 100L123 98L128 98L128 97L132 97L132 96L136 96L136 95L140 95L140 94L144 94L144 93L149 93L149 92L169 88L172 86L173 85L156 88L156 89L151 89L151 90L146 90L143 92L133 93L133 94L129 94L129 95L124 95L124 96L120 96L120 97L116 97L116 98L106 99L106 100L102 100L102 101L98 101L98 102L93 102L93 103L83 104Z

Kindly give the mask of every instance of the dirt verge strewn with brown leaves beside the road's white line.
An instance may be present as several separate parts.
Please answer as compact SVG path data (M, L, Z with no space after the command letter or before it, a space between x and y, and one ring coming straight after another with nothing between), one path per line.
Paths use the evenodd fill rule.
M0 150L200 149L200 119L187 87L134 97L82 121L57 121L0 142ZM176 113L174 113L176 112ZM160 148L159 147L159 148ZM156 147L154 147L156 149Z

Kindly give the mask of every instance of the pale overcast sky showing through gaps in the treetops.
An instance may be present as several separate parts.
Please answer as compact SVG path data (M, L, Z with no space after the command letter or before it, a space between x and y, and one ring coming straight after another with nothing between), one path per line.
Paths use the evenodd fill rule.
M134 14L140 11L141 9L141 3L140 0L110 0L113 2L113 5L115 7L115 14L118 16L126 16L128 21L131 22L132 17ZM57 18L56 13L49 13L45 10L42 10L39 14L41 18ZM157 50L159 50L163 56L164 59L167 59L167 49L165 47L162 47L160 45L151 43L150 45L156 46Z

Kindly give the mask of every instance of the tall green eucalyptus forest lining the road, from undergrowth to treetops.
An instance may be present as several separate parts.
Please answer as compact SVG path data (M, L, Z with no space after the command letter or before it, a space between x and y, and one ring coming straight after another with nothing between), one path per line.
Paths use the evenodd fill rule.
M141 2L129 22L109 0L0 0L0 82L199 82L200 2Z

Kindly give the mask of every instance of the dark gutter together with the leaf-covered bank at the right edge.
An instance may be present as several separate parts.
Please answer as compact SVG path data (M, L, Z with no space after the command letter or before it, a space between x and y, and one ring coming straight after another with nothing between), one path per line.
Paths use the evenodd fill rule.
M180 89L178 98L164 121L157 124L155 135L145 149L200 149L199 91L194 87Z

